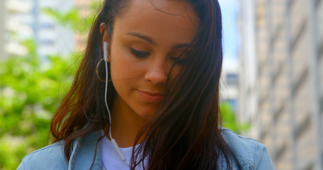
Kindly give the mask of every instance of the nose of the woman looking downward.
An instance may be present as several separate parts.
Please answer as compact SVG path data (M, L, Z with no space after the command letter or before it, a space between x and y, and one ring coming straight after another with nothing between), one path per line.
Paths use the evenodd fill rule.
M145 80L154 84L165 84L167 81L166 68L161 62L151 65L145 74Z

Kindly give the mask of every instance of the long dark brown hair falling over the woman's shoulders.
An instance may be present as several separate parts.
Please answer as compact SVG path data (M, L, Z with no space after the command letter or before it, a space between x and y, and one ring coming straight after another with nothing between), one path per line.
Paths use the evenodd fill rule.
M137 135L134 146L141 136L144 137L144 145L136 150L133 147L133 170L147 156L148 169L216 169L221 153L224 154L227 169L233 168L230 163L232 157L238 162L219 129L219 81L223 62L220 5L217 0L186 1L193 5L201 19L200 29L190 44L195 42L194 51L181 63L183 67L176 78L167 80L160 108ZM105 83L96 75L96 65L103 58L103 35L99 27L101 23L106 23L105 31L112 37L114 19L122 15L130 4L131 0L103 2L89 33L84 58L72 87L51 120L52 142L65 141L64 155L67 160L76 138L99 130L109 122L103 95ZM172 72L173 69L169 74ZM99 74L105 77L103 67ZM109 108L112 108L115 94L110 81L107 95ZM239 163L238 166L241 168Z

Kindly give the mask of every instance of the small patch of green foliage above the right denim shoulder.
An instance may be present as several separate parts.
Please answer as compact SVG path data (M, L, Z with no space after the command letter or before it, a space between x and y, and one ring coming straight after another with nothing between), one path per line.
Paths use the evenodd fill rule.
M250 124L238 123L236 121L234 110L228 102L223 102L220 104L220 112L223 127L227 127L238 134L250 128Z

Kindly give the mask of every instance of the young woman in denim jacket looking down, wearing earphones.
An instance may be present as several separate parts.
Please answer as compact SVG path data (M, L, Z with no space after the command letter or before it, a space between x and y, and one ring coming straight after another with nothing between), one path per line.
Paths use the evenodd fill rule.
M18 169L274 169L266 147L221 127L217 0L106 0L53 144Z

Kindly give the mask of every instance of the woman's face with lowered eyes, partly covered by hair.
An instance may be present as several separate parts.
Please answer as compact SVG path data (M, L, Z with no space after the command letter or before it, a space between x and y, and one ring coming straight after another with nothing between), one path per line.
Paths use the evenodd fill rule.
M167 77L174 57L193 40L200 24L193 7L184 1L153 2L170 14L157 10L149 0L132 0L126 12L115 18L109 42L108 62L118 106L142 118L151 117L160 107L166 81L175 76ZM107 40L105 35L103 41Z

